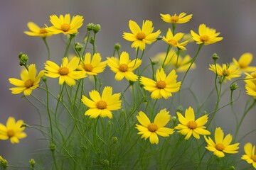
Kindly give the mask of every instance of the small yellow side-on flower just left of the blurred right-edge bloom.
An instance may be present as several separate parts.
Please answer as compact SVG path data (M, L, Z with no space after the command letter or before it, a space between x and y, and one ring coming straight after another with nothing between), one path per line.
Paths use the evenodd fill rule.
M220 64L210 64L210 71L217 72L218 76L223 77L224 81L226 79L231 80L236 77L240 77L240 72L238 71L238 68L235 67L233 64L223 64L221 67Z

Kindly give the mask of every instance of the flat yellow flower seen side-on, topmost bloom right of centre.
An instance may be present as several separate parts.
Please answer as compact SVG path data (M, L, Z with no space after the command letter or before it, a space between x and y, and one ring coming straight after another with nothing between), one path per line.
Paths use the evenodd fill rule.
M171 16L170 14L162 14L160 13L161 19L166 23L187 23L191 20L192 14L189 14L186 16L186 13L180 13L178 16L175 13L174 16Z

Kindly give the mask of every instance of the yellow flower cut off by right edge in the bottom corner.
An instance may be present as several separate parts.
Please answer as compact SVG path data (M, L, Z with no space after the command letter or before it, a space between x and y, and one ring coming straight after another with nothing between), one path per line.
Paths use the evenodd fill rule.
M256 169L256 155L255 155L255 145L252 147L251 143L247 143L244 146L245 154L242 155L241 159L245 160L248 164Z

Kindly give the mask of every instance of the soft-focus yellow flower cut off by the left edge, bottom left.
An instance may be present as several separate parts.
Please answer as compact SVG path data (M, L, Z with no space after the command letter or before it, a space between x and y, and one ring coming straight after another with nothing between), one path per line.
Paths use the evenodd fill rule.
M9 117L6 126L0 123L0 140L11 140L11 143L19 143L18 139L26 137L26 133L23 132L25 127L21 128L23 120L16 120L13 117Z

